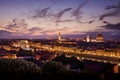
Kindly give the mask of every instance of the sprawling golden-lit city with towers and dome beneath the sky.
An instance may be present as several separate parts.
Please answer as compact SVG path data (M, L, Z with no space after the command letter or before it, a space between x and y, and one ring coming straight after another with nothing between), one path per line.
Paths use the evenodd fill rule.
M5 58L17 58L17 54L20 49L31 51L34 53L34 55L38 55L37 53L43 50L49 52L65 52L96 56L120 57L119 43L105 42L102 33L98 33L95 39L92 39L90 35L87 34L83 41L64 39L61 37L60 32L58 33L57 39L53 40L23 39L11 40L9 42L7 40L4 41L6 41L7 44L1 41L2 44L0 45L0 55ZM44 55L47 56L47 53ZM44 55L40 54L39 57Z

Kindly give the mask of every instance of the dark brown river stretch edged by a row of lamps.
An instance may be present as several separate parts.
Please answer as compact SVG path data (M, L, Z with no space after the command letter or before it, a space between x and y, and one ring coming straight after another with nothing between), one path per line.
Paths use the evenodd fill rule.
M110 56L101 56L101 55L91 55L91 54L81 54L81 53L66 53L67 57L76 56L79 60L92 60L97 62L104 63L113 63L120 64L120 58L118 57L110 57Z

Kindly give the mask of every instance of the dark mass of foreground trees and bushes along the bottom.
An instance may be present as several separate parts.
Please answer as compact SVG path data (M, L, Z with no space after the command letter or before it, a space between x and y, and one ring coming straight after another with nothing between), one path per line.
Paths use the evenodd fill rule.
M25 60L0 59L0 80L102 80L102 78L96 74L68 70L56 61L45 62L39 67Z

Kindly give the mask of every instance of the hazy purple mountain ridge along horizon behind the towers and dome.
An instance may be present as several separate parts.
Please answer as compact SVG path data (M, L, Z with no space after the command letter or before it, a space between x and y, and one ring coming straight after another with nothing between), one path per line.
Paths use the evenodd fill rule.
M86 34L62 34L61 37L63 38L80 38L83 39L86 37L87 34L90 35L91 38L96 38L98 32L85 32ZM105 39L120 39L120 33L114 32L102 32ZM0 30L0 39L18 39L18 38L25 38L25 39L47 39L48 37L52 37L57 39L57 34L55 35L37 35L31 36L30 34L18 34L17 32L10 32L7 30Z

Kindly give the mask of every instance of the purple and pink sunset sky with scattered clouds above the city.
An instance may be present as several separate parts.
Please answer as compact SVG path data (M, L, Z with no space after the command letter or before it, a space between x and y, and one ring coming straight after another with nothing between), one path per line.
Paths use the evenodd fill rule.
M0 38L54 38L58 32L119 39L120 1L0 0Z

